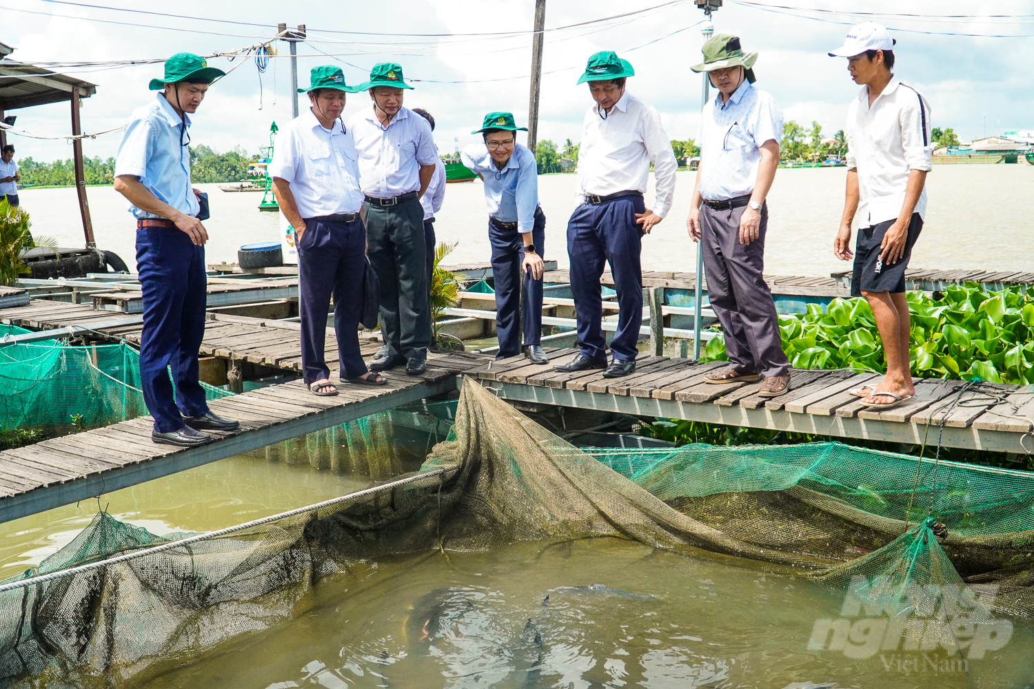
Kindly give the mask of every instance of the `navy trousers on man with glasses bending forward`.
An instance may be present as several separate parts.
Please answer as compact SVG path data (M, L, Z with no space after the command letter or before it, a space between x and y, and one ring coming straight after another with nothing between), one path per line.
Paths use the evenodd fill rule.
M517 312L520 310L520 272L524 260L524 240L517 228L503 229L488 221L488 239L492 244L492 280L495 282L495 332L499 338L499 354L520 353L517 338ZM545 256L546 214L535 212L531 243L540 256ZM524 276L524 344L542 343L542 278Z

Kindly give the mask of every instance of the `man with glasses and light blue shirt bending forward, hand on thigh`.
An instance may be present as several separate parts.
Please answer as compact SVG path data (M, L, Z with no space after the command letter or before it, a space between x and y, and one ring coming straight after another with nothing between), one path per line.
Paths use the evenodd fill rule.
M518 318L523 323L524 355L533 364L549 364L542 349L542 255L546 242L546 214L539 206L539 170L535 154L515 140L511 113L489 113L481 129L484 144L463 149L463 164L485 183L488 239L492 244L492 279L495 282L495 331L499 353L521 351ZM521 272L524 273L524 312L520 310Z

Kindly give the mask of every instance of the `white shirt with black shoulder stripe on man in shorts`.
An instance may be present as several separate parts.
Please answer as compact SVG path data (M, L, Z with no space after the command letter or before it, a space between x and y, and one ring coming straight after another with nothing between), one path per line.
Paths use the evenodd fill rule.
M930 103L896 77L869 106L869 87L847 106L847 166L858 170L858 211L861 227L871 227L901 215L905 190L913 169L933 169ZM915 213L926 213L926 187Z

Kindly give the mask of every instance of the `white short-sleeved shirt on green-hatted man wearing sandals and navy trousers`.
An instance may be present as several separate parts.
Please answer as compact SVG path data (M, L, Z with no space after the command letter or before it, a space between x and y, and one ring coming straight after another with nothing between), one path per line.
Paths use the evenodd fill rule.
M325 129L311 108L280 130L269 175L291 184L303 218L359 213L363 207L352 132L339 120Z

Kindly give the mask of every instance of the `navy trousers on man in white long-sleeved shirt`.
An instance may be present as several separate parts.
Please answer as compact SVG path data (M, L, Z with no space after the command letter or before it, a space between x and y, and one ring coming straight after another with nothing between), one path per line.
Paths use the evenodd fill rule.
M643 320L643 278L639 264L642 251L636 214L645 211L642 196L619 196L599 205L582 203L568 221L568 255L571 258L571 292L578 318L581 353L605 358L603 294L600 277L610 263L617 290L617 332L610 343L614 358L634 362L639 351L639 327Z

